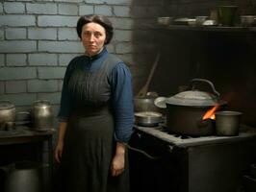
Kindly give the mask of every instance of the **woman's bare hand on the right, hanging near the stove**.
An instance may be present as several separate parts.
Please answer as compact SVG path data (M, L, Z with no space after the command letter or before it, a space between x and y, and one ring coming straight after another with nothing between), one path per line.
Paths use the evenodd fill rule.
M124 170L124 154L116 154L112 160L111 172L112 176L119 176Z

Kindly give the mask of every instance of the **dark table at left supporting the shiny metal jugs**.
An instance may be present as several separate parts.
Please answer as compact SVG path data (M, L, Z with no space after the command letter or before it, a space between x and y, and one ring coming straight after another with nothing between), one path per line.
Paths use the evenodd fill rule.
M13 163L20 160L37 160L47 169L46 180L53 178L53 134L54 130L44 132L32 131L20 126L12 131L0 131L0 164ZM32 147L31 147L32 146ZM33 156L33 157L31 157Z

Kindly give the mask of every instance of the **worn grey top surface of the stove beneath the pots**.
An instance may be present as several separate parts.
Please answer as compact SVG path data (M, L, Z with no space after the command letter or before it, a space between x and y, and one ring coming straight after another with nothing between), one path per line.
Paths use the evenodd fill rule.
M135 126L135 130L157 137L170 145L178 147L188 147L196 145L207 145L213 143L239 142L244 139L256 139L256 129L245 125L241 125L240 133L237 136L188 136L167 132L166 127L159 125L158 127L141 127Z

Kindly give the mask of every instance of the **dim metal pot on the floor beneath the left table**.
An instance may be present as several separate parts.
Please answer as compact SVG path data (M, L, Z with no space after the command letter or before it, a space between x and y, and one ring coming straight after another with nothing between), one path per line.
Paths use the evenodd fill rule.
M15 162L0 167L0 173L3 192L42 192L41 166L36 162Z

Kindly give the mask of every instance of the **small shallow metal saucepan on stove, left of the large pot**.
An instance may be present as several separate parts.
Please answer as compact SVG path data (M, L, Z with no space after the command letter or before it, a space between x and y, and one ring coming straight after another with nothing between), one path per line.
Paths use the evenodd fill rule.
M135 122L137 125L145 127L154 127L162 121L162 113L155 111L141 111L135 113Z

